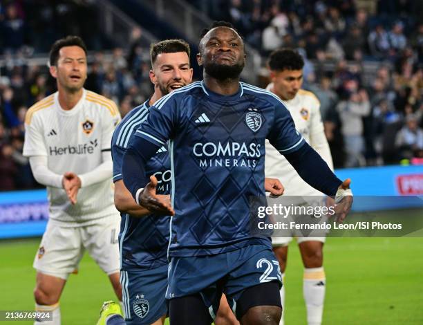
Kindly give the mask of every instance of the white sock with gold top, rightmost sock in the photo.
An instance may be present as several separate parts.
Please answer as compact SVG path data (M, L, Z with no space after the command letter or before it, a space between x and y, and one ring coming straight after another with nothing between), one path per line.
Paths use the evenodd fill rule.
M326 292L326 275L323 267L304 269L303 295L306 301L308 325L320 325Z

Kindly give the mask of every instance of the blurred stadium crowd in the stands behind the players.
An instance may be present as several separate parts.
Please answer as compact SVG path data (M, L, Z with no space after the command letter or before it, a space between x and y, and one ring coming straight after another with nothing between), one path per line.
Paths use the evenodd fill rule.
M85 39L94 50L85 88L113 99L122 116L151 93L150 62L137 46L139 30L128 48L104 55L99 50L104 43L94 37L98 31L79 24L89 19L77 18L81 12L95 17L89 4L77 8L73 1L55 1L51 8L43 1L37 16L26 12L28 2L0 2L0 190L37 186L22 156L23 120L28 107L55 91L55 83L46 65L28 64L27 58L45 52L56 38L78 34ZM298 48L307 58L304 88L321 102L335 167L423 158L423 23L417 19L422 1L196 3L210 17L232 21L263 58L284 46ZM69 24L60 26L79 27L44 25L56 21L46 18L51 15L66 17ZM376 66L370 78L366 62Z

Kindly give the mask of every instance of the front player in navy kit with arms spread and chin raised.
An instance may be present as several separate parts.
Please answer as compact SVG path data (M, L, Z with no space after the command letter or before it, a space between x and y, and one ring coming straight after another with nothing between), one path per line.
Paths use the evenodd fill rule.
M224 25L224 26L222 26ZM222 293L241 324L278 324L281 273L270 238L250 232L250 198L264 196L265 139L310 185L336 196L338 220L350 209L342 182L295 130L276 95L239 82L245 50L218 24L200 40L204 80L151 107L129 141L122 174L135 202L171 214L167 299L172 325L211 324ZM156 195L147 162L169 142L171 204Z

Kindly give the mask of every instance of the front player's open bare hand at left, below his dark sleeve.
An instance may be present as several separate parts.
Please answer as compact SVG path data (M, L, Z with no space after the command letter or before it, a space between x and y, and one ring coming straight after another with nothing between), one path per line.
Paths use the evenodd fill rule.
M175 211L170 203L169 196L156 194L157 183L156 176L150 176L150 183L148 183L141 191L138 201L140 202L140 205L146 207L154 214L173 216Z

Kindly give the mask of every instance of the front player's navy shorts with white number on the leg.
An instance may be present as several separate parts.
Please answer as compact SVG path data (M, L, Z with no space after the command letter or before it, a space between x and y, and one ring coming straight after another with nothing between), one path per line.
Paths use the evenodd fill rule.
M222 293L235 313L236 301L246 288L270 281L282 286L279 262L265 245L200 257L172 257L166 298L200 293L214 317Z

